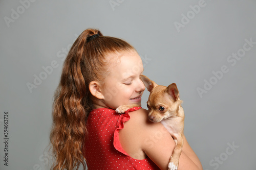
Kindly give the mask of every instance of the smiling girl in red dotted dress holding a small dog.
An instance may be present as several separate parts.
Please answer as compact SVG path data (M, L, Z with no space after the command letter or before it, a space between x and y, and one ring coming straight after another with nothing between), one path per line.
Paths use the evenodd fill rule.
M175 142L147 110L125 114L120 105L141 106L143 64L135 48L99 30L87 29L74 42L54 95L50 135L52 169L167 169ZM179 169L202 169L184 137Z

